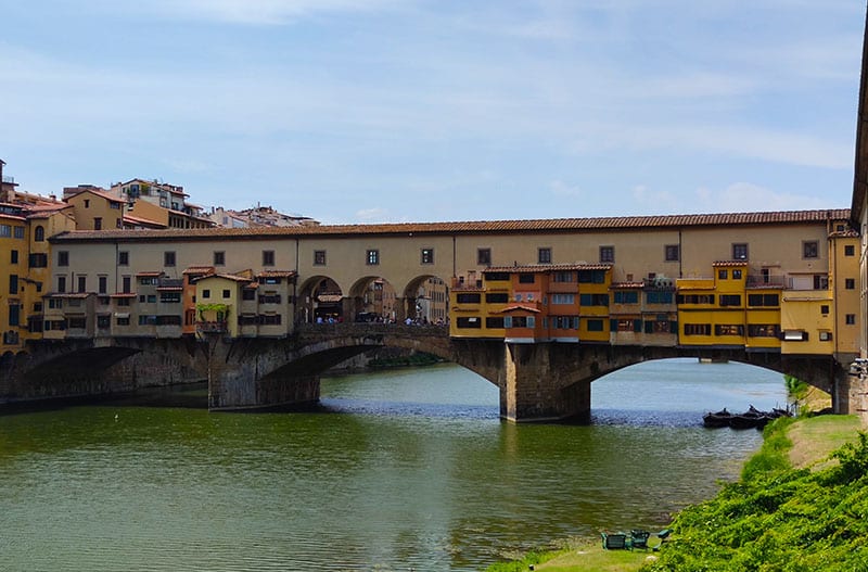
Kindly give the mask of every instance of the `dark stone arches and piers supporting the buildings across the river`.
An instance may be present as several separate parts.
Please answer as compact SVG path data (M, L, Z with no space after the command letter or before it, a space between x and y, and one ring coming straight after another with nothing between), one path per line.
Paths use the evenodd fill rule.
M212 410L303 406L319 398L319 377L378 347L424 352L463 366L498 386L510 421L587 421L591 382L642 361L672 357L727 359L790 373L851 411L854 379L828 356L781 356L743 349L505 344L450 339L445 328L376 323L304 325L286 339L115 338L42 342L0 364L0 404L97 396L208 380ZM855 401L854 401L855 403Z

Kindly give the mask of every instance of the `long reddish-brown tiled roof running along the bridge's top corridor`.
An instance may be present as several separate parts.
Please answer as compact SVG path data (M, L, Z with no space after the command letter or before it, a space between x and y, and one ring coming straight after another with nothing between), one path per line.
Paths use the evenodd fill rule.
M485 234L528 232L580 232L608 230L646 230L650 228L685 228L715 226L761 226L846 220L848 208L828 211L782 211L767 213L722 213L704 215L625 216L600 218L552 218L536 220L488 220L457 223L400 223L387 225L333 225L254 228L200 228L139 230L76 230L53 237L52 241L89 240L210 240L218 237L257 239L269 237L323 237L358 234Z

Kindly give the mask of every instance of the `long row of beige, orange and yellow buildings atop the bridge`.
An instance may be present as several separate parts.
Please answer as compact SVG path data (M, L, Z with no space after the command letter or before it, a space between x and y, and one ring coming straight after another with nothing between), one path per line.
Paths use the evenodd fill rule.
M285 336L321 304L348 321L369 313L376 284L395 292L398 320L414 317L423 287L439 280L455 338L739 346L845 363L860 321L848 215L68 231L50 239L48 268L28 268L44 275L44 304L22 307L15 331L163 338L219 322L230 338Z

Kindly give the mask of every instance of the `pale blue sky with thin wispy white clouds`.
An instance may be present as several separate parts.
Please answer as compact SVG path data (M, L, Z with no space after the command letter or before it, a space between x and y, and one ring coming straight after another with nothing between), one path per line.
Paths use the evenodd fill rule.
M323 224L848 207L863 0L0 0L20 189Z

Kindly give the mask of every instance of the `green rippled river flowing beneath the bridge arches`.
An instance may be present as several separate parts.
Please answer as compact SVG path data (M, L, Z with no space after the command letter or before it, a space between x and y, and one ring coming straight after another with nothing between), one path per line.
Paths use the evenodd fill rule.
M501 422L454 365L323 379L317 412L7 412L0 570L484 570L663 527L762 441L702 412L784 402L778 373L677 359L596 381L588 427Z

